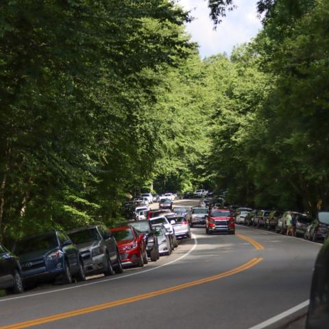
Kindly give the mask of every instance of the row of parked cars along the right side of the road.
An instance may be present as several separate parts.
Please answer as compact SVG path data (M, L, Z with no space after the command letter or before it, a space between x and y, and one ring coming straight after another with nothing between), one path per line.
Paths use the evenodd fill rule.
M252 210L236 208L236 223L273 230L280 234L287 232L287 215L296 219L295 234L310 241L324 241L329 237L329 212L319 211L315 218L293 210Z

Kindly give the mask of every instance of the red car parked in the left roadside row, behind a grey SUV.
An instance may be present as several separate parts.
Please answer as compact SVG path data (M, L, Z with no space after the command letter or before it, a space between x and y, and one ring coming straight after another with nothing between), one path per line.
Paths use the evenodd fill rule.
M121 263L124 267L143 267L148 263L146 243L143 234L132 226L121 226L111 228L121 256Z

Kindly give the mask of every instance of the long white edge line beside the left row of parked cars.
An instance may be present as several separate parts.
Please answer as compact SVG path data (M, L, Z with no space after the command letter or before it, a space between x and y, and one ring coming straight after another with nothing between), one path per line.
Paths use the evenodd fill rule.
M17 297L5 298L5 299L1 299L0 302L8 302L9 300L21 300L21 299L27 298L27 297L47 295L49 293L59 293L60 291L83 288L83 287L91 286L93 284L100 284L100 283L108 282L108 281L112 281L112 280L119 280L119 279L122 279L122 278L127 278L128 276L137 276L138 274L146 273L146 272L149 272L149 271L154 271L155 269L160 269L161 267L176 263L179 260L181 260L182 258L185 258L189 254L191 254L191 252L193 252L193 250L197 247L197 238L195 237L194 234L192 234L192 237L193 237L193 240L194 240L193 247L191 247L191 249L189 249L188 252L186 252L186 254L180 256L177 259L171 260L171 262L169 262L169 263L165 263L165 264L159 265L157 267L152 267L151 269L145 269L144 271L138 271L136 273L126 274L124 276L114 276L114 278L110 278L110 279L106 279L106 280L99 280L99 281L95 281L95 282L84 283L84 284L80 284L80 285L75 285L73 287L67 287L67 288L56 289L56 290L51 290L51 291L43 291L42 293L32 293L32 294L29 294L29 295L22 295L22 296L17 296Z

